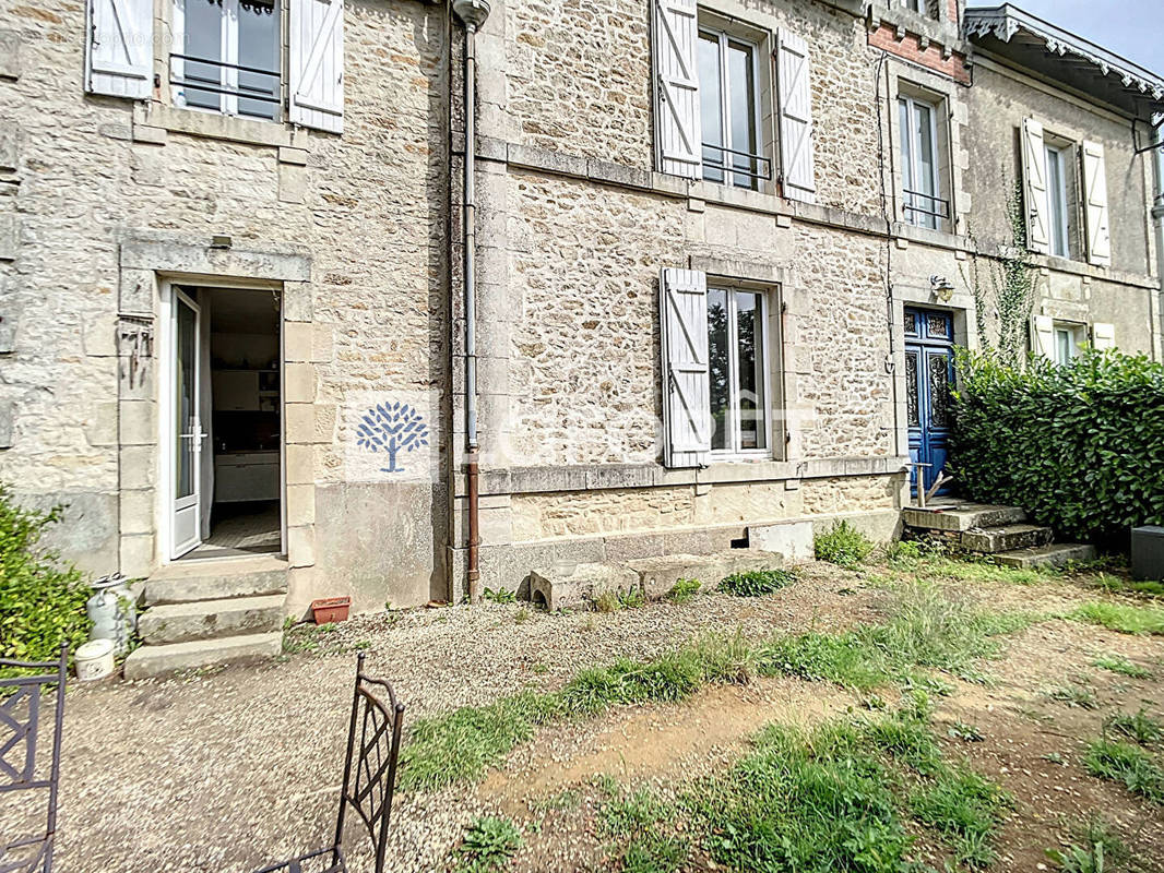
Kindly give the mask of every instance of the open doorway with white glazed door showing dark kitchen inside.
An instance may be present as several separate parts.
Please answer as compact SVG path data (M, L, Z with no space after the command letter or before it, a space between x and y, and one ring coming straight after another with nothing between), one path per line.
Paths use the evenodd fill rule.
M279 293L175 283L169 306L166 558L283 553Z

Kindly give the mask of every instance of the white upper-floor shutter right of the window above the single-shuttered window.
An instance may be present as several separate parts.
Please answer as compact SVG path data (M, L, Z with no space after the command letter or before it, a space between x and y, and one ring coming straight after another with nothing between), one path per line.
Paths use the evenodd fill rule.
M779 34L776 85L780 92L780 168L785 197L816 203L808 42L788 30Z

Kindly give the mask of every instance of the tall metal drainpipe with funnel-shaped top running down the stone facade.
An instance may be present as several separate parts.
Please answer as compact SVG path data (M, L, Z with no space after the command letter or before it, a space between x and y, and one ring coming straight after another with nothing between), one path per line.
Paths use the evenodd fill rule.
M453 10L464 22L464 166L462 203L462 248L464 267L464 480L469 510L468 588L469 602L481 599L481 534L478 528L477 440L477 204L476 204L476 114L477 114L477 30L489 17L488 0L453 0Z

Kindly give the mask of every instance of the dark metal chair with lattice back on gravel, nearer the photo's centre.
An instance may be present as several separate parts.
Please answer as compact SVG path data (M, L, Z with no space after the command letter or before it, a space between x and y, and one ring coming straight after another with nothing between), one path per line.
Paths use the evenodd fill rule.
M388 825L396 792L396 761L400 753L400 723L404 704L388 682L363 672L364 656L356 660L356 688L352 698L352 722L348 726L348 752L343 761L340 786L340 814L335 822L335 842L327 849L263 867L255 873L347 873L340 843L343 839L343 814L350 805L359 814L371 838L375 873L384 871ZM3 873L0 870L0 873Z

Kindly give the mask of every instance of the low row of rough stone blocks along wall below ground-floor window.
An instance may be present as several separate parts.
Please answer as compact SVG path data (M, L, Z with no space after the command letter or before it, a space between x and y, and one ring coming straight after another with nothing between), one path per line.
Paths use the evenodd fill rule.
M638 590L660 599L681 579L715 588L724 576L774 569L783 563L776 552L733 548L710 555L662 555L622 563L556 563L530 572L530 597L553 612L579 609L606 592Z

